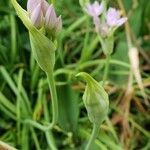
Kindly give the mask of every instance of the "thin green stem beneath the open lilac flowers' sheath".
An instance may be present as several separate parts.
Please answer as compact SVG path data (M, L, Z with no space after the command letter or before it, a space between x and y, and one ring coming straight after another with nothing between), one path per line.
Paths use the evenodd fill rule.
M105 70L103 75L103 85L105 84L108 77L110 58L111 58L110 55L106 55Z

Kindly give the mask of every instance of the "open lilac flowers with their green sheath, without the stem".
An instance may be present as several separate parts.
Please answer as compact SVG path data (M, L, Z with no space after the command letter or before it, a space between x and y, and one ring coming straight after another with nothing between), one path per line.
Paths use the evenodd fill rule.
M97 1L93 4L87 2L83 9L93 18L104 53L110 55L113 51L114 32L127 21L127 17L121 17L119 11L112 7L105 12L104 3L100 4ZM103 18L100 18L101 15L103 15Z

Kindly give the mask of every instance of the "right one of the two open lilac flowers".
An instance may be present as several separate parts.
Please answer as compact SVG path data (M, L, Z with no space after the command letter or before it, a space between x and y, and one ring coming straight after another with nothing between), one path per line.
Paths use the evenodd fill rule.
M110 27L119 27L127 21L127 17L120 17L119 11L109 8L106 13L106 23Z

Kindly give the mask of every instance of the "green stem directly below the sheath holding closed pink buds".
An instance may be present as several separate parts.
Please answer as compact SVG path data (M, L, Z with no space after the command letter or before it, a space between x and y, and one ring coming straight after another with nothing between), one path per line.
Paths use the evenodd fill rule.
M52 124L51 126L54 126L58 121L58 101L57 101L57 93L56 93L56 86L54 81L54 75L53 71L49 71L46 73L49 83L49 88L51 92L51 98L52 98Z

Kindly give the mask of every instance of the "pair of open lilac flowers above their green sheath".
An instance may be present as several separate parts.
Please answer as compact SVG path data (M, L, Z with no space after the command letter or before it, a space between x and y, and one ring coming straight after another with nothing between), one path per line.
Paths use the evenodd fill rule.
M103 13L104 6L97 1L93 4L86 4L84 10L93 18L96 31L103 37L109 35L110 32L117 29L127 21L127 17L120 17L119 11L110 7L105 14L105 20L100 22L99 16Z

